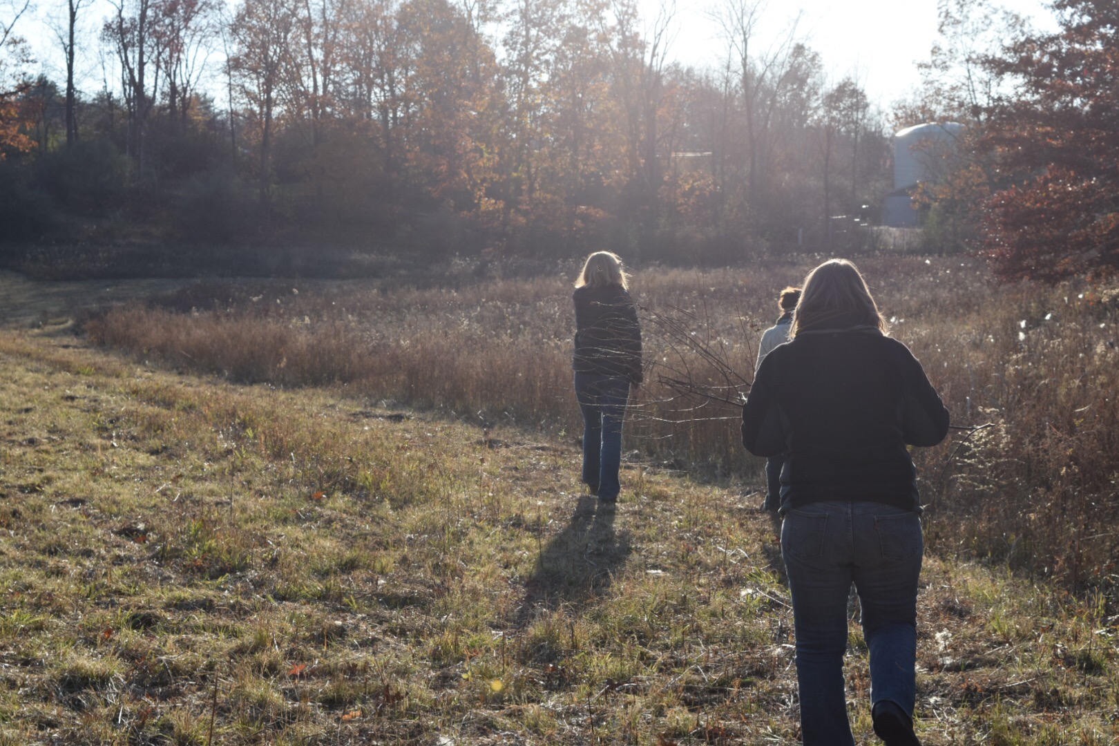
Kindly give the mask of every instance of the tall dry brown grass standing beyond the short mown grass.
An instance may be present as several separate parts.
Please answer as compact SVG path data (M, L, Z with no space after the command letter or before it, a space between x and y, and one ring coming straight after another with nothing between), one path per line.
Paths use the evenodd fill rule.
M755 478L761 462L741 448L733 402L749 390L777 292L815 263L637 273L648 385L630 414L628 447L707 475ZM929 546L1113 591L1113 299L1076 283L996 285L959 257L858 263L953 423L981 426L914 453ZM574 437L574 274L444 289L201 284L111 311L87 329L115 349L234 380L344 385L373 400Z

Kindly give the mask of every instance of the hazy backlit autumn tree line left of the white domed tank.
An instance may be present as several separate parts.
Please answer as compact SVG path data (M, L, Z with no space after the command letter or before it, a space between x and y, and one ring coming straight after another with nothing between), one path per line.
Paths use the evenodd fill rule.
M760 38L749 0L720 9L706 70L632 0L113 0L83 40L87 2L59 23L66 81L21 79L8 45L22 238L66 214L188 242L733 261L849 240L833 217L888 187L858 82L794 29ZM82 44L111 60L100 91L75 89Z

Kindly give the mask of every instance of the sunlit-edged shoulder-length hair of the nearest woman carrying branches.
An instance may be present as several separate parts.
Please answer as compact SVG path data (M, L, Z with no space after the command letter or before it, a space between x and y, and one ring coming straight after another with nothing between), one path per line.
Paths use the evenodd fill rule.
M789 337L816 329L850 327L872 327L882 333L888 329L858 267L847 259L829 259L805 277Z

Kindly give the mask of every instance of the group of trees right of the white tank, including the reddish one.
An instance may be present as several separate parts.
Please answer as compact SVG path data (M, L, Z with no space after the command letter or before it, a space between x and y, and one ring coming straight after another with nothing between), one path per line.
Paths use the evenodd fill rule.
M941 41L904 116L967 125L916 199L941 247L1003 280L1119 271L1119 3L1056 0L1051 28L977 0L941 4Z

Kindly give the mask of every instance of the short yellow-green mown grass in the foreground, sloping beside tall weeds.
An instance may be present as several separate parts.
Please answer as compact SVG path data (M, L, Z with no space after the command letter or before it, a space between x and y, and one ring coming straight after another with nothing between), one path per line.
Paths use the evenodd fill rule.
M577 459L0 332L0 744L796 743L751 485L630 463L600 512ZM922 583L924 743L1115 742L1106 605Z

